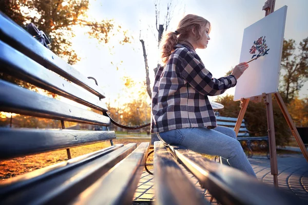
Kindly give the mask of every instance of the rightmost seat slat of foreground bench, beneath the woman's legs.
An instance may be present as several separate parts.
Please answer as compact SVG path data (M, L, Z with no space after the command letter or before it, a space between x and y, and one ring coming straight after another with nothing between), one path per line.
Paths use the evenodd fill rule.
M201 154L172 147L178 159L222 204L303 204L299 198L258 181L237 169L210 161Z

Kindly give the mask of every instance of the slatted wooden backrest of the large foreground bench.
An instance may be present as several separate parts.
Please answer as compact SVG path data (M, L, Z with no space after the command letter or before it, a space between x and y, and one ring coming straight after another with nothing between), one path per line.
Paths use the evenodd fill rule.
M0 111L110 126L102 89L0 13L0 72L86 106L73 106L0 80ZM102 114L90 111L95 109ZM0 128L0 159L114 139L111 131ZM18 143L17 143L18 142Z

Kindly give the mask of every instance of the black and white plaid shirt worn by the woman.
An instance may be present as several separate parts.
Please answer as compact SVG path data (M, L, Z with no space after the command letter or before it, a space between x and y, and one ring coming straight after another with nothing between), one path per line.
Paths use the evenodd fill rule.
M155 77L151 133L191 127L216 128L216 116L207 96L220 95L236 83L233 75L212 78L194 48L179 43Z

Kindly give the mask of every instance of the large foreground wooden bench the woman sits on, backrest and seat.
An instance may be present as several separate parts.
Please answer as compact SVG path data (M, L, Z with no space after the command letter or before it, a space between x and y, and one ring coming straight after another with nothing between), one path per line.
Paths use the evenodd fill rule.
M64 121L110 126L97 85L0 14L0 72L102 114L0 80L0 110L59 119L62 130L0 128L0 159L89 145L111 146L0 182L1 204L131 204L149 143L113 145L113 131L65 130ZM75 84L75 85L73 85ZM77 86L76 86L77 85ZM115 122L114 122L115 123ZM117 124L117 123L115 123ZM298 198L181 147L155 143L157 204L208 204L180 168L223 204L303 204Z

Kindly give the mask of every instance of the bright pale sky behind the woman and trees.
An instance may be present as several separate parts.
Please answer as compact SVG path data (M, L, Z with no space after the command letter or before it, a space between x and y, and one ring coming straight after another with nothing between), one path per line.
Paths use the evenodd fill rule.
M161 19L165 15L166 3L161 1ZM264 17L262 7L265 0L173 0L175 9L168 27L175 31L180 19L186 14L200 15L211 23L210 40L206 49L199 49L207 70L213 77L225 76L231 67L239 64L244 29ZM295 39L296 43L308 37L308 1L306 0L276 0L275 10L288 6L284 38ZM123 92L124 76L130 76L136 81L145 80L145 68L141 36L146 42L150 80L153 82L153 68L158 63L158 48L155 35L155 6L152 0L90 0L89 18L95 20L113 19L133 36L131 44L117 44L117 39L109 45L102 45L95 39L89 39L82 29L76 29L73 49L81 57L74 65L86 76L95 77L111 101L126 102L136 96ZM161 21L160 23L163 23ZM113 47L114 46L114 47ZM110 50L110 47L113 47ZM110 51L112 54L110 54ZM112 63L111 63L112 62ZM235 89L229 89L227 94L234 94ZM304 85L300 96L308 95L308 83ZM215 100L215 98L213 98Z

